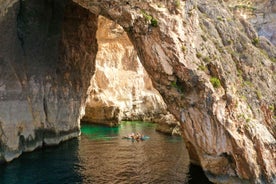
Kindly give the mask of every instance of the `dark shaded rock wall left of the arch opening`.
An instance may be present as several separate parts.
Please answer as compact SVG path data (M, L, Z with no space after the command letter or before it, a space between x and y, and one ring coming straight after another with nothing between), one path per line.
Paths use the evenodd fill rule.
M0 160L10 161L79 135L97 17L67 1L27 0L0 20Z

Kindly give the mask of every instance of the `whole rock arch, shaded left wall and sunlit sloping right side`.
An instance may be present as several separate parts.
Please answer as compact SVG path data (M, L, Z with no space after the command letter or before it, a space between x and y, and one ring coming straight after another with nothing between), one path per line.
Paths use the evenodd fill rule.
M75 0L65 11L47 2L1 12L1 160L78 129L102 15L127 31L210 180L276 182L275 47L228 2ZM64 18L44 16L54 12Z

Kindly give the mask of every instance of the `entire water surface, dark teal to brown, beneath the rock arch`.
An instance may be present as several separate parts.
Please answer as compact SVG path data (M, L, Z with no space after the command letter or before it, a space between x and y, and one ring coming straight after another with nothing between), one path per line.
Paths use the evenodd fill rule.
M122 139L131 132L150 138ZM207 182L202 173L188 172L189 158L180 137L160 134L151 123L123 122L117 128L82 125L78 139L2 164L0 184L197 183L199 178Z

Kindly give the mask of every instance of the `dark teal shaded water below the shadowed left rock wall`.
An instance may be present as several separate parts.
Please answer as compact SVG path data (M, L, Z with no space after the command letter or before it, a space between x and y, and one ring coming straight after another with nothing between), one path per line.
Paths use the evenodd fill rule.
M0 165L1 184L82 183L78 173L77 138L58 146L24 153L11 163Z

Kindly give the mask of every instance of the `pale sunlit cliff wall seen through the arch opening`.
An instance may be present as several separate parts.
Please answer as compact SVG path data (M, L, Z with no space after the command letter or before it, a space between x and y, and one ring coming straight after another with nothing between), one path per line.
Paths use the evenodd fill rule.
M98 19L96 71L83 121L116 125L120 120L155 119L166 105L153 88L124 29Z

